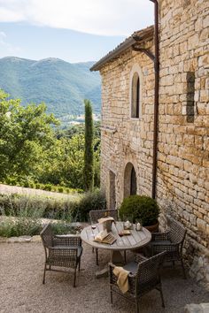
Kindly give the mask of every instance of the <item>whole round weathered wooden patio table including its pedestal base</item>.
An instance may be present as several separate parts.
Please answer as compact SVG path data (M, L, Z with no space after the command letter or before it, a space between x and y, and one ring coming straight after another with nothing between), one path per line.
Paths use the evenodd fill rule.
M134 229L130 229L130 234L120 236L120 233L124 230L123 224L123 222L112 223L111 233L116 239L112 244L95 241L97 233L103 230L103 224L99 223L83 228L81 231L81 240L94 248L109 250L111 252L110 262L114 264L122 263L124 259L121 251L142 248L151 241L151 233L144 227L140 231L136 231L135 225L133 227ZM96 276L103 276L105 270L107 269L97 271Z

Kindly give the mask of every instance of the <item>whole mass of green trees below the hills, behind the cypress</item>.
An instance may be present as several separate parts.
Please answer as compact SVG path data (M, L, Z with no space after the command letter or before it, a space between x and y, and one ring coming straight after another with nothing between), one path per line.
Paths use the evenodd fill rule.
M84 126L57 130L59 122L44 103L21 106L0 90L0 181L32 180L84 188ZM99 184L100 130L93 141Z

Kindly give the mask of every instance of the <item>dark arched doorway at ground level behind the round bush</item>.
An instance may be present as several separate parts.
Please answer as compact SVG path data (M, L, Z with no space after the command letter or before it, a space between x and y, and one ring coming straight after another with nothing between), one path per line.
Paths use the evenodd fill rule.
M128 162L124 172L124 198L129 195L136 195L137 184L135 167L132 163Z

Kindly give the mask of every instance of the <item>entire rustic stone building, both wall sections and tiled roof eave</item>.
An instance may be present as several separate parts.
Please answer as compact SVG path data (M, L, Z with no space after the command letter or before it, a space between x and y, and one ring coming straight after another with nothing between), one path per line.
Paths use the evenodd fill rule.
M159 0L156 199L188 229L190 274L209 288L209 1ZM102 76L101 185L108 206L151 195L154 28L92 67Z

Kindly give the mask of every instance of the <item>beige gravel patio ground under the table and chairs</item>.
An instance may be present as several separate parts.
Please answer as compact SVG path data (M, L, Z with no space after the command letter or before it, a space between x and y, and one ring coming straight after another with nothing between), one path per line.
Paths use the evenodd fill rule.
M110 303L108 279L96 279L95 254L86 244L81 259L77 286L73 274L46 273L42 284L44 253L41 242L0 244L0 312L70 312L70 313L133 313L131 304L118 295ZM108 261L108 252L99 250L100 267ZM130 255L128 255L130 257ZM166 309L161 307L157 291L140 300L143 313L183 312L187 303L208 302L209 294L192 279L182 279L181 268L165 268L163 290Z

